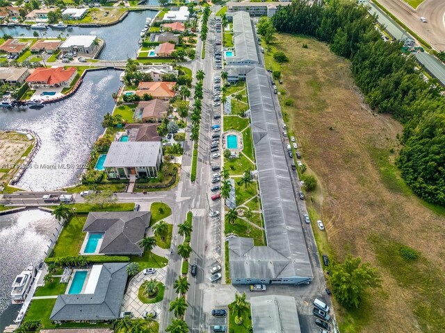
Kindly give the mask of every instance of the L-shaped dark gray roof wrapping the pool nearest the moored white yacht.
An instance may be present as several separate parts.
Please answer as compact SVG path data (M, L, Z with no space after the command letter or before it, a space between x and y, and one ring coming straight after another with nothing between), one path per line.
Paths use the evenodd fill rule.
M127 284L127 263L103 264L95 293L59 295L51 321L104 321L119 318Z

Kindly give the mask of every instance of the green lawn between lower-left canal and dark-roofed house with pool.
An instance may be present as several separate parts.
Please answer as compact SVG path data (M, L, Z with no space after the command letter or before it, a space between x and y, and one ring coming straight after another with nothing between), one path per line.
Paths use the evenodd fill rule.
M86 235L86 232L82 232L86 218L86 215L75 215L72 217L60 233L51 257L79 255L79 250Z

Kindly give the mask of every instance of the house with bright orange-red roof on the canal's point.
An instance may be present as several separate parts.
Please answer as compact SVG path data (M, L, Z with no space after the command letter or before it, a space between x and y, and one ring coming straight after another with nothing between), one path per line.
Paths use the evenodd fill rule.
M31 89L70 87L72 80L76 77L75 67L45 68L38 67L26 78Z

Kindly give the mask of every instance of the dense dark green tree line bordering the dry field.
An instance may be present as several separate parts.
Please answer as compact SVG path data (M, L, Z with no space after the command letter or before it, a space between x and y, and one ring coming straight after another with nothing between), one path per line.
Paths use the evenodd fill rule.
M445 205L445 101L436 80L424 80L403 43L385 42L375 17L355 1L327 5L295 0L272 17L277 31L316 37L350 59L355 83L373 110L404 125L397 165L414 193Z

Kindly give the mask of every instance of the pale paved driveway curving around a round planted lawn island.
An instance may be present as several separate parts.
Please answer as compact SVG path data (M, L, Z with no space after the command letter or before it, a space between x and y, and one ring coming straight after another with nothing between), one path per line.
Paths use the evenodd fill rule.
M165 268L156 268L156 273L152 275L144 275L144 273L140 272L138 275L131 278L127 292L124 294L124 303L122 304L120 311L131 311L136 318L142 318L144 311L154 310L158 314L156 319L159 321L162 301L153 304L145 304L138 298L140 285L143 284L145 280L150 280L152 278L165 284Z

